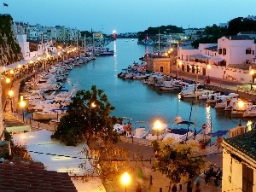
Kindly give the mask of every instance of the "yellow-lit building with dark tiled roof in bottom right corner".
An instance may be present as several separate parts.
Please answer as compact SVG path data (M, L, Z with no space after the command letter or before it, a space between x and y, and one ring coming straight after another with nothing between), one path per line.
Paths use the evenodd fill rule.
M241 127L242 128L242 127ZM223 146L222 191L256 191L256 129L243 133L237 127Z

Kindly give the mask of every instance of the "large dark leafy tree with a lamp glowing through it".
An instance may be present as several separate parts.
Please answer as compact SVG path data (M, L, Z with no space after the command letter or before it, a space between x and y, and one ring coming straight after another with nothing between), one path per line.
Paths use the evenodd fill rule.
M62 143L76 146L78 143L90 143L92 138L103 138L105 142L119 141L119 135L113 131L118 118L109 116L114 110L108 102L104 90L97 90L93 85L90 90L79 90L67 107L51 138Z

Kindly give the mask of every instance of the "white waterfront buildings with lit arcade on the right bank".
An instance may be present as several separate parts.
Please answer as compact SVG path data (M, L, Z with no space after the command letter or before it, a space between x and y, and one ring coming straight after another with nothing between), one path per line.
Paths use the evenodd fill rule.
M224 36L218 39L218 44L200 44L198 49L179 46L177 69L218 79L254 83L255 49L253 38L244 35Z

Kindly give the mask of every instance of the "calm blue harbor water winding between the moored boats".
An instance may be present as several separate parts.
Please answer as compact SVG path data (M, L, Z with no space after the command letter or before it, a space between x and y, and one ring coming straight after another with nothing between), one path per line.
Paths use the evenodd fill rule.
M130 118L134 127L143 125L136 121L146 121L148 125L144 126L150 129L154 121L160 119L171 128L177 115L193 122L197 131L203 124L209 132L211 129L212 132L229 130L239 124L239 119L230 118L224 111L216 111L214 106L207 106L206 101L199 100L195 105L193 99L180 100L177 91L163 91L142 84L140 80L119 79L122 69L132 66L134 61L141 63L139 58L145 54L145 49L152 49L137 44L137 39L118 38L107 47L114 50L114 55L98 56L94 61L74 67L64 83L65 89L77 84L78 90L90 90L96 85L96 89L104 90L115 108L111 115ZM242 121L242 125L246 124Z

